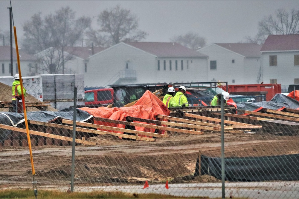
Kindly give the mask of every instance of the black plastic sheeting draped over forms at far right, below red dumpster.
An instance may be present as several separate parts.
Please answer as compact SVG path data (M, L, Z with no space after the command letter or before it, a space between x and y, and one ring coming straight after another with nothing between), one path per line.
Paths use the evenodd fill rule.
M236 104L237 104L237 109L242 109L247 111L254 111L260 107L266 109L273 109L273 110L277 110L283 107L290 108L290 109L299 108L299 101L280 93L274 95L274 97L270 101L238 102Z

